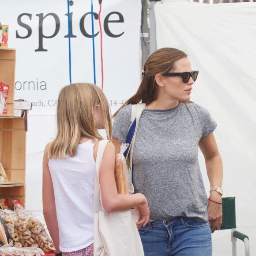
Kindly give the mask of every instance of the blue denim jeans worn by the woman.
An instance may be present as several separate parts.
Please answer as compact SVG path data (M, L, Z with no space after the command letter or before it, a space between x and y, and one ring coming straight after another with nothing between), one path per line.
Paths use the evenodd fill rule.
M209 222L194 218L153 221L139 229L145 256L211 256Z

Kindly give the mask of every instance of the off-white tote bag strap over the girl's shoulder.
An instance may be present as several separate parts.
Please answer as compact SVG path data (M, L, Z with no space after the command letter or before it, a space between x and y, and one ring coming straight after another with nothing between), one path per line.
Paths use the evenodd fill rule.
M109 140L103 139L99 142L98 151L97 151L97 157L96 157L96 170L95 170L95 182L94 182L94 212L99 212L99 203L102 205L102 196L101 196L101 190L100 190L100 182L99 182L99 173L100 173L100 167L102 164L102 158L105 151L105 147ZM105 209L102 206L103 211Z

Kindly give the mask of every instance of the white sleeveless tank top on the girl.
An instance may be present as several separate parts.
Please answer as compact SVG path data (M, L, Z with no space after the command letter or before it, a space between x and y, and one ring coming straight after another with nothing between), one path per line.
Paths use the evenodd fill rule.
M60 233L60 250L73 252L93 243L93 142L79 144L75 157L49 159Z

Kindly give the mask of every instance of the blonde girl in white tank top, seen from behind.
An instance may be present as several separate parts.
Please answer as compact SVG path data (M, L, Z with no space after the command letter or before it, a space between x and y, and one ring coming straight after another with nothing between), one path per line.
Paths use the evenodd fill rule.
M99 87L74 83L60 91L57 135L45 147L43 159L43 211L56 252L63 256L93 255L95 161L103 139L97 129L103 128L111 139L109 104ZM147 199L140 193L117 193L114 158L115 147L109 142L99 177L103 207L108 212L134 207L140 212L138 228L145 226Z

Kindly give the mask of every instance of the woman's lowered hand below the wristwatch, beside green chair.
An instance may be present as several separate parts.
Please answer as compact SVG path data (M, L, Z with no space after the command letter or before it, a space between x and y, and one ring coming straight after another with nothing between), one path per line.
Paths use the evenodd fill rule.
M215 203L209 200L207 211L209 223L211 226L211 233L214 233L215 230L220 230L222 224L222 204L221 204L221 196L212 196L209 197L211 200L214 200Z

